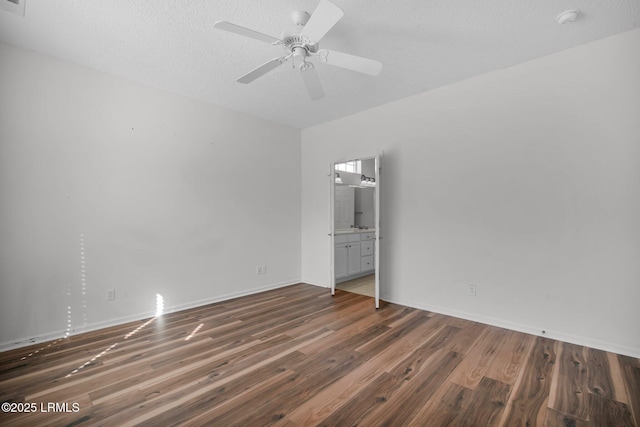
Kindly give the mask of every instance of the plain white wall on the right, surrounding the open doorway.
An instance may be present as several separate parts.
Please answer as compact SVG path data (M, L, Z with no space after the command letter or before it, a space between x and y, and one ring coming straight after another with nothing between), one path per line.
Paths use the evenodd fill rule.
M329 284L329 163L384 151L383 299L640 357L640 30L302 144L305 282Z

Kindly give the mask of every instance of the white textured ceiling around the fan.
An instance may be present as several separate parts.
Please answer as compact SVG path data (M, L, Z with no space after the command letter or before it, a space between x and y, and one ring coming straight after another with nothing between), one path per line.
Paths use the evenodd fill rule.
M0 42L305 128L640 26L639 0L333 0L345 15L320 47L381 61L378 77L318 64L318 101L286 66L236 83L282 48L214 22L279 37L318 2L26 0L24 17L0 10Z

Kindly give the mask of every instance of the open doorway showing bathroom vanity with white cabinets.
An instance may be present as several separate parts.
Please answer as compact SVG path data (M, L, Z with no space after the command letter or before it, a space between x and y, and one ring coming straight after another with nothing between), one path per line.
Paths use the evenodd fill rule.
M331 163L331 293L374 299L380 307L380 157Z

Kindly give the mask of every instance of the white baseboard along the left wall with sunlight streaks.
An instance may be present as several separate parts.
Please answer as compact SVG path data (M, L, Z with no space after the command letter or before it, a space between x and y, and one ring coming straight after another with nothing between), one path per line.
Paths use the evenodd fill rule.
M240 291L240 292L231 292L228 294L223 294L223 295L218 295L215 297L211 297L211 298L205 298L205 299L201 299L201 300L197 300L197 301L192 301L192 302L188 302L185 304L179 304L176 306L172 306L172 307L165 307L164 313L168 314L168 313L175 313L177 311L182 311L182 310L188 310L190 308L196 308L196 307L202 307L204 305L208 305L208 304L213 304L216 302L222 302L222 301L227 301L230 299L234 299L234 298L239 298L239 297L243 297L243 296L248 296L248 295L253 295L253 294L258 294L260 292L265 292L265 291L270 291L273 289L279 289L279 288L284 288L285 286L291 286L291 285L295 285L297 283L301 283L300 280L291 280L291 281L285 281L285 282L279 282L279 283L272 283L270 285L266 285L266 286L261 286L258 288L251 288L248 290L244 290L244 291ZM154 317L156 315L155 311L149 311L149 312L145 312L145 313L138 313L138 314L133 314L130 316L123 316L123 317L118 317L115 319L109 319L109 320L105 320L105 321L101 321L101 322L95 322L95 323L91 323L89 325L83 326L83 327L76 327L73 328L73 331L71 334L69 334L69 336L73 336L73 335L78 335L78 334L82 334L85 332L92 332L92 331L97 331L99 329L104 329L104 328L109 328L112 326L118 326L118 325L123 325L125 323L129 323L129 322L136 322L136 321L141 321L141 320L146 320L149 319L151 317ZM48 341L54 341L57 339L64 339L66 337L67 331L66 330L59 330L59 331L53 331L53 332L47 332L47 333L43 333L41 335L37 335L34 337L30 337L30 338L21 338L21 339L17 339L17 340L13 340L13 341L7 341L7 342L3 342L0 343L0 352L3 351L9 351L9 350L15 350L15 349L19 349L22 347L27 347L27 346L31 346L34 344L39 344L39 343L45 343Z

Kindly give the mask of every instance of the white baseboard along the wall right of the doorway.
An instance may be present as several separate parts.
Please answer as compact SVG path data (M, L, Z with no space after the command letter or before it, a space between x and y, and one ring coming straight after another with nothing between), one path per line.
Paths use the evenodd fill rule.
M434 306L430 304L416 303L415 301L403 301L394 298L390 298L386 295L381 295L380 299L393 304L400 304L407 307L418 308L420 310L432 311L438 314L444 314L447 316L458 317L460 319L466 319L473 322L479 322L486 325L497 326L499 328L509 329L512 331L523 332L525 334L535 335L539 337L551 338L557 341L564 341L571 344L582 345L586 347L595 348L598 350L608 351L611 353L622 354L634 358L640 358L640 349L628 347L624 345L618 345L615 343L595 340L592 338L567 334L561 331L545 329L544 333L541 328L536 328L531 325L524 325L516 322L511 322L503 319L497 319L488 316L481 316L473 313L467 313L464 311L451 310L445 307Z

